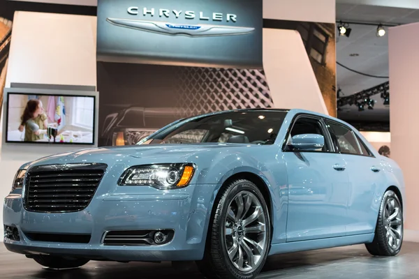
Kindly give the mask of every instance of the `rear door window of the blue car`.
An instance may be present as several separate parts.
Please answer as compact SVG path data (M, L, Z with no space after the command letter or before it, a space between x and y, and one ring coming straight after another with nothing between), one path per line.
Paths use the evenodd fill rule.
M338 123L326 121L332 142L340 153L362 155L360 144L352 130Z

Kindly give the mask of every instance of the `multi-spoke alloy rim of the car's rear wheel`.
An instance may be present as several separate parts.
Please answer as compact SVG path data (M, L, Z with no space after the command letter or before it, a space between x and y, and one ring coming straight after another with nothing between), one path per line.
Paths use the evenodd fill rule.
M397 250L402 245L403 215L402 206L394 197L385 202L383 217L387 243L393 250Z

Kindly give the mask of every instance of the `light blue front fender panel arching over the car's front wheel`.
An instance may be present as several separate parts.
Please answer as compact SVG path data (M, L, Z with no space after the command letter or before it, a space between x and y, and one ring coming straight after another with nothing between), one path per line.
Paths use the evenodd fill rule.
M210 164L205 165L205 162L197 161L198 177L196 183L215 186L208 204L205 233L210 224L214 202L223 184L232 176L246 173L256 175L262 179L268 193L270 193L271 220L273 224L277 224L273 228L272 243L279 243L282 239L286 239L288 179L285 161L280 153L274 151L274 147L276 146L257 146L257 151L251 153L242 151L221 152L214 154L211 158L203 156L203 154L198 156L199 158L205 158L205 162L210 162Z

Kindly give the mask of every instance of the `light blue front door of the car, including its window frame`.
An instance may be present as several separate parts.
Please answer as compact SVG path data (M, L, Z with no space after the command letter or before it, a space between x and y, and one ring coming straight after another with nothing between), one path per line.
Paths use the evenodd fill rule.
M325 138L318 150L292 150L296 135ZM333 149L323 119L297 116L283 146L288 174L287 242L344 236L347 223L348 173L341 154Z

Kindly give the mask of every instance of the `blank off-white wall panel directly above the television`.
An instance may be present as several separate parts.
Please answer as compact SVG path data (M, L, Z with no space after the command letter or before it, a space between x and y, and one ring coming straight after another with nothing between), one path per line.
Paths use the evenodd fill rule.
M16 12L10 82L96 86L96 17Z

